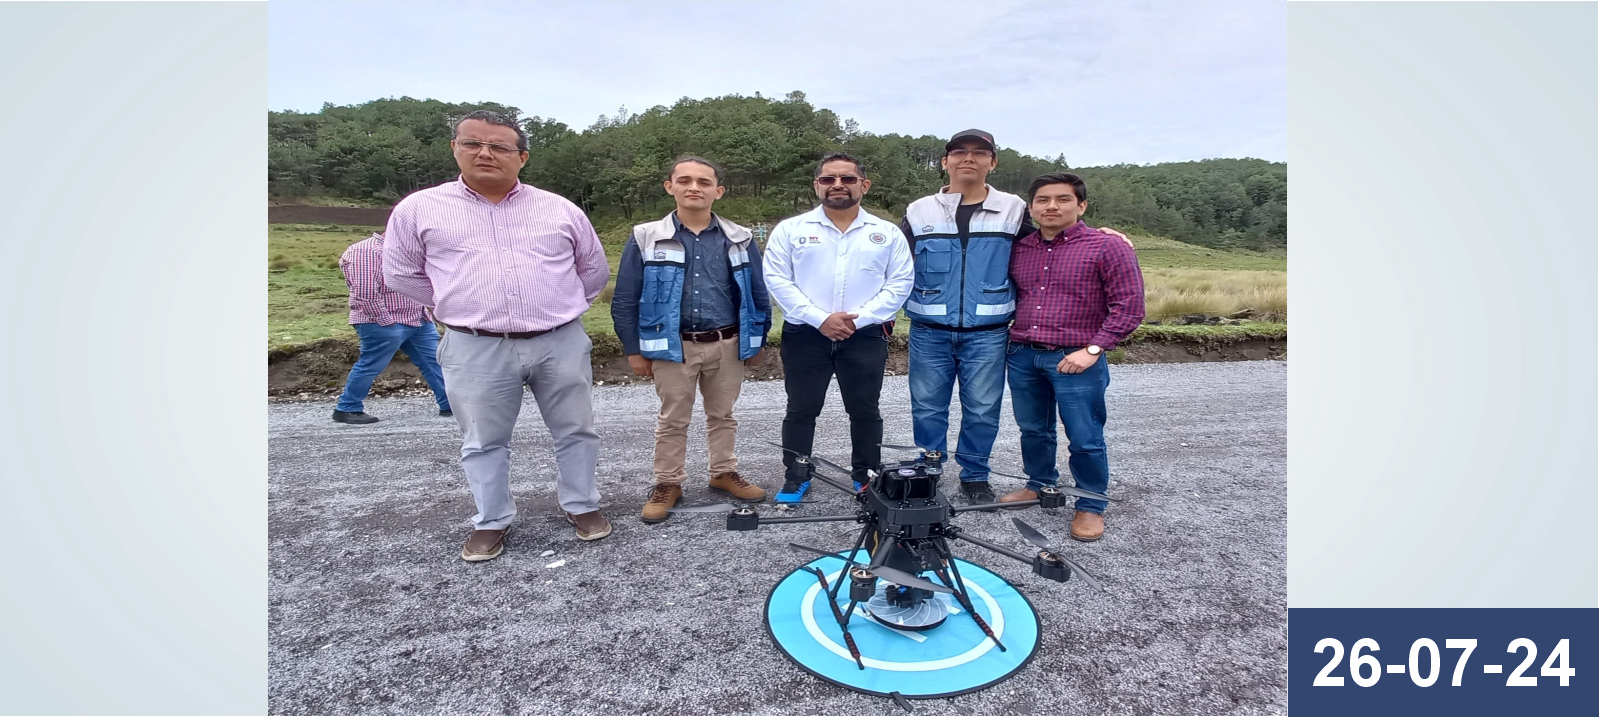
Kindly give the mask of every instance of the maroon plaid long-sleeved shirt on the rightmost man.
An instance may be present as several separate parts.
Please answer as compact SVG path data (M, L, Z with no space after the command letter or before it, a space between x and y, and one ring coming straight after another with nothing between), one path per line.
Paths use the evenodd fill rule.
M1084 222L1054 240L1039 232L1011 250L1012 341L1115 349L1143 322L1143 272L1132 246Z

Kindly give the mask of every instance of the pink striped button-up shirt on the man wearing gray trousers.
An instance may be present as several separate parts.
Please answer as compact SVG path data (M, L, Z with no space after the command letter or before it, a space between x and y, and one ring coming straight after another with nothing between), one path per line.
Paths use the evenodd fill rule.
M516 184L500 203L459 178L395 205L384 282L451 326L547 331L580 317L611 267L577 205Z

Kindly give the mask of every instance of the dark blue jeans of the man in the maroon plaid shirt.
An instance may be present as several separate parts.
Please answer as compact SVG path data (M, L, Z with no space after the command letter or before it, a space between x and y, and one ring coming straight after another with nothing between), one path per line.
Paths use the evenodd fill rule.
M1070 349L1076 350L1076 349ZM1055 485L1055 413L1067 429L1071 479L1078 488L1105 493L1110 488L1110 461L1105 459L1105 387L1110 368L1105 358L1083 373L1060 373L1055 367L1067 350L1035 350L1011 344L1006 363L1011 378L1011 408L1022 429L1022 471L1027 487ZM1105 512L1105 501L1078 498L1078 511Z

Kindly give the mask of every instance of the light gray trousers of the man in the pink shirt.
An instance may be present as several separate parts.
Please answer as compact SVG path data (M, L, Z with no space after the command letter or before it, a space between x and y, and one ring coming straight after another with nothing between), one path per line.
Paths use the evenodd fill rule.
M438 363L449 386L449 407L461 424L461 469L467 474L478 514L475 530L500 530L516 517L510 495L510 435L521 413L521 387L532 389L544 426L555 440L560 477L555 495L561 509L584 514L600 509L595 432L588 389L593 342L582 322L571 322L531 339L497 339L445 331Z

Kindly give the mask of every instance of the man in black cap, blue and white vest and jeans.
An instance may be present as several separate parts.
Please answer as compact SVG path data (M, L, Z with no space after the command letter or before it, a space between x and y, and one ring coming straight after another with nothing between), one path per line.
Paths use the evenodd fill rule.
M998 166L995 138L966 130L943 147L950 186L905 208L916 283L910 318L910 405L916 445L948 451L950 397L961 383L955 459L961 493L993 503L988 455L999 432L1006 344L1015 315L1011 245L1033 230L1027 202L985 182Z

